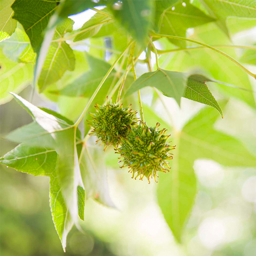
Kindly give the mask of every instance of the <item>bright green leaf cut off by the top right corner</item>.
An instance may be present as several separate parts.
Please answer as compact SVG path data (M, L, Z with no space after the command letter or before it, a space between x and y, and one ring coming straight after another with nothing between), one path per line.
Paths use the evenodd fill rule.
M209 13L218 19L218 26L229 35L226 19L229 16L256 18L255 0L201 0Z

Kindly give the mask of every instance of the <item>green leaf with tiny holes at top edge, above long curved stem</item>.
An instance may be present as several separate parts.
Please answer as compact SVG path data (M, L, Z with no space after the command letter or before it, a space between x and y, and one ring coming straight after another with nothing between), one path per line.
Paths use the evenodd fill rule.
M200 9L196 8L189 1L175 3L172 7L164 10L159 23L158 30L164 35L175 35L186 37L186 30L195 26L214 21ZM170 42L178 47L185 48L186 42L169 39Z

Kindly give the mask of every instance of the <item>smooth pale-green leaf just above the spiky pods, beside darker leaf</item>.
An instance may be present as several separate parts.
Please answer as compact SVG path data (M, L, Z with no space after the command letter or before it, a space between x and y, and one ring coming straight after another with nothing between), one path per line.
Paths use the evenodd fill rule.
M156 87L164 95L173 97L180 105L180 98L186 86L188 74L158 69L140 76L127 91L127 95L134 93L145 86Z

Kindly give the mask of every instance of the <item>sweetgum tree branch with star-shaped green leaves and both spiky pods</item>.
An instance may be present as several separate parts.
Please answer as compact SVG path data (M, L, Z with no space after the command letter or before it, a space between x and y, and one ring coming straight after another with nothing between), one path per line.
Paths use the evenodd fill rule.
M93 17L73 29L70 15L87 9ZM0 103L14 98L33 122L4 135L18 145L0 163L49 177L52 220L64 251L88 198L114 207L105 154L115 151L115 168L121 162L132 177L159 180L158 204L179 242L197 193L196 159L256 166L240 140L214 128L231 97L256 108L256 74L247 65L256 64L256 47L232 43L235 33L256 26L255 19L255 0L1 0ZM18 94L30 84L28 101ZM32 104L35 93L59 111ZM143 103L148 96L150 106ZM165 97L208 106L177 131L155 114L158 99L172 111ZM97 160L89 141L99 142ZM99 156L100 175L91 168Z

